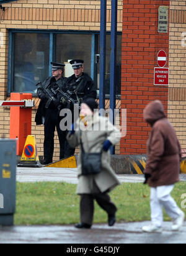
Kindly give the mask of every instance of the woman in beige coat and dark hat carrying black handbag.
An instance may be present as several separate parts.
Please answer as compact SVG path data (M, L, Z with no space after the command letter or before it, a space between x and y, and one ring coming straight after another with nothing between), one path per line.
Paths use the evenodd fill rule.
M79 130L74 126L67 139L71 147L81 145L81 153L78 160L78 188L77 194L81 196L80 215L81 222L76 228L91 228L94 217L94 199L108 214L108 225L113 226L116 221L117 207L110 200L108 192L120 185L112 167L110 167L110 152L112 145L120 142L120 131L114 127L107 118L100 117L98 104L89 98L81 104ZM95 109L97 111L95 112ZM85 160L92 157L91 160ZM99 164L100 168L95 165ZM95 159L95 160L94 160ZM87 164L86 164L87 163ZM97 169L97 174L87 174L86 171ZM100 170L99 170L100 169Z

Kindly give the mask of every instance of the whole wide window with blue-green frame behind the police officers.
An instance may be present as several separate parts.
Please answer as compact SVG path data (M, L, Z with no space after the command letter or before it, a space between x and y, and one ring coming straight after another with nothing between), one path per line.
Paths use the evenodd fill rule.
M8 93L36 93L38 81L51 76L50 62L63 62L65 76L73 75L69 60L84 60L84 72L92 77L99 93L100 53L98 32L60 32L45 30L9 31ZM121 91L122 35L117 36L117 94ZM110 94L110 35L107 35L105 94Z

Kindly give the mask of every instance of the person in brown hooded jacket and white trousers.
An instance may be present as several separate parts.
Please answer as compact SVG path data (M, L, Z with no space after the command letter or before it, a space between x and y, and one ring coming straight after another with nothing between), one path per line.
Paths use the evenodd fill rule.
M151 187L151 225L144 232L161 232L162 207L172 218L172 231L184 224L185 214L170 196L174 184L179 181L181 149L175 130L166 118L161 101L153 101L144 109L144 120L151 127L147 142L148 163L145 182Z

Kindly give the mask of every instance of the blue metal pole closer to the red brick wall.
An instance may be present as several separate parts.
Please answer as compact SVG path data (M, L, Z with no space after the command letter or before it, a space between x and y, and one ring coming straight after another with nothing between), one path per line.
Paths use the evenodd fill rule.
M110 55L110 121L115 124L114 110L116 107L116 65L117 65L117 0L112 0L112 21L111 21L111 55ZM115 153L112 147L111 153Z

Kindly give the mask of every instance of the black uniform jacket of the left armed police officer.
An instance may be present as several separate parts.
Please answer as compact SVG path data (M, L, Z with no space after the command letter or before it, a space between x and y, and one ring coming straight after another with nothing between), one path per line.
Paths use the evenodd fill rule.
M50 76L45 81L43 81L42 85L45 89L50 89L50 86L58 85L60 87L60 89L63 90L66 83L67 83L67 78L61 77L59 80L56 81L53 76ZM43 99L41 97L42 94L43 94L42 86L39 85L38 89L37 89L37 96L38 96L38 98L41 98L41 101L40 101L40 104L38 106L38 110L37 110L37 113L35 116L35 122L37 125L43 124L42 117L45 117L45 114L47 111L47 108L45 106L49 99L49 96L46 93L45 93L46 97ZM50 103L50 106L48 106L48 109L56 109L56 111L59 111L56 108L56 106L53 104L53 102Z

